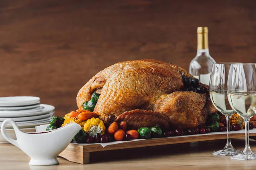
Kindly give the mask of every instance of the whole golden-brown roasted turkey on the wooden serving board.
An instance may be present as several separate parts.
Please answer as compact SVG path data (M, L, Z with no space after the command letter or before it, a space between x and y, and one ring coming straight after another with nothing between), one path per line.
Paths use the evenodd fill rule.
M94 108L107 125L127 123L128 129L159 125L194 128L216 112L206 94L182 91L183 77L193 77L177 65L153 59L119 62L100 71L77 95L82 109L93 92L100 93Z

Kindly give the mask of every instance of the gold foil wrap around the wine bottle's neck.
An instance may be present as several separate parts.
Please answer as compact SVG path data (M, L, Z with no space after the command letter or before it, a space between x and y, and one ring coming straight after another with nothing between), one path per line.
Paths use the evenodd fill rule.
M208 49L208 28L207 27L198 27L198 49Z

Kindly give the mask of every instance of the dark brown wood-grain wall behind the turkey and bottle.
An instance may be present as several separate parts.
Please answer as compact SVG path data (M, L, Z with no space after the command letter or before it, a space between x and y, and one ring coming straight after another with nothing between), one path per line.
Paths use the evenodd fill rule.
M0 96L39 96L63 116L116 62L188 69L198 26L216 62L256 62L255 0L1 0Z

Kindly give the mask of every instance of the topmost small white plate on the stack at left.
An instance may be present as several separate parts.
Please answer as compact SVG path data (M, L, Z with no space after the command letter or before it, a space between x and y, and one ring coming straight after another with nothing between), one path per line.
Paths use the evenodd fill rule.
M39 102L40 98L34 96L0 97L0 107L34 105Z

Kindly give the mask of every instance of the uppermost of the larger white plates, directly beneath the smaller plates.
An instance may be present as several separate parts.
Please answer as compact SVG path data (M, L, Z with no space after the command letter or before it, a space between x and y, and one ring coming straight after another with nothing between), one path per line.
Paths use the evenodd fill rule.
M12 114L6 114L6 113L0 113L0 118L13 118L13 117L26 117L26 116L38 116L38 115L42 115L45 113L49 113L54 111L54 106L52 105L44 105L41 104L41 106L44 107L44 109L42 111L39 112L33 112L33 113L12 113Z

